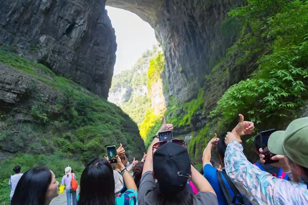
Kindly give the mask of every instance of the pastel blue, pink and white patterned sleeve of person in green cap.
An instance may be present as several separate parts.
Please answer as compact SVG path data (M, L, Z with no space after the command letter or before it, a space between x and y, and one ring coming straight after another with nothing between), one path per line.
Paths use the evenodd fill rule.
M261 171L247 160L242 145L236 141L227 146L225 168L237 189L252 204L308 204L306 185Z

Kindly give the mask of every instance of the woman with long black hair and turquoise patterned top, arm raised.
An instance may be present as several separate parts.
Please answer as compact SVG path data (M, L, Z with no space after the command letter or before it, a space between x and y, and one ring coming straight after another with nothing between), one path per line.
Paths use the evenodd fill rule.
M125 154L125 153L124 153ZM78 205L135 205L137 187L134 179L126 170L120 157L116 156L117 167L121 170L127 191L115 195L115 180L111 164L106 159L92 160L80 177Z

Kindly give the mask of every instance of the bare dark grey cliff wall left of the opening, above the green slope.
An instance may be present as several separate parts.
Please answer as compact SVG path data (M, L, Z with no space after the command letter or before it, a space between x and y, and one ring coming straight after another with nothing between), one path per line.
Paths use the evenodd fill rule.
M3 0L0 42L107 99L116 42L104 8L104 0Z

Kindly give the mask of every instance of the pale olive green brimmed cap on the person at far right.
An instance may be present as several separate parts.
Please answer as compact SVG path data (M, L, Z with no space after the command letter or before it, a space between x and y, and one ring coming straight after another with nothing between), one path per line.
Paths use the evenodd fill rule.
M267 146L270 152L308 168L308 117L293 120L286 131L271 134Z

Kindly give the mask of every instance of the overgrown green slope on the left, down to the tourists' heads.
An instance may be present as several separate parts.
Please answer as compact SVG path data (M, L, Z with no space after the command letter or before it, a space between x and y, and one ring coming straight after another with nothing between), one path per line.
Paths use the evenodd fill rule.
M56 176L67 164L82 171L87 162L106 154L106 146L120 142L128 157L142 157L138 127L119 107L11 49L0 49L0 64L11 67L0 80L6 83L6 78L20 76L31 85L20 84L16 89L26 90L18 100L8 103L4 98L0 106L0 152L11 153L0 161L0 182L17 164L23 171L47 166ZM24 82L28 81L20 81Z

